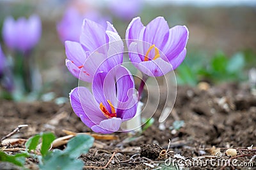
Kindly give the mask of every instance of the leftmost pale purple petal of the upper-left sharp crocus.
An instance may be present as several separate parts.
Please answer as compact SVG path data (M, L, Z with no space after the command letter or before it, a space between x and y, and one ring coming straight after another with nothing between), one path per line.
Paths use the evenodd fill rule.
M82 66L88 57L81 44L75 41L65 41L65 51L68 60L72 60L76 66Z

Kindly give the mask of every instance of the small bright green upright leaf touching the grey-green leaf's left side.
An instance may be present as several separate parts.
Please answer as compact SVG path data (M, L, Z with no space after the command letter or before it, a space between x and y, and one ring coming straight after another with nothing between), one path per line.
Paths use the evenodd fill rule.
M54 141L55 136L52 132L46 132L40 134L42 137L42 147L41 147L41 154L44 157L46 153L49 151L52 141Z

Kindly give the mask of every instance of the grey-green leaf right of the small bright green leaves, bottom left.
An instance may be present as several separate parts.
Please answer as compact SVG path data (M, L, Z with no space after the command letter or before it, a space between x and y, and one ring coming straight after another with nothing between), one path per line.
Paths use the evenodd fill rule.
M78 134L76 137L68 141L67 148L64 153L68 153L70 157L79 157L81 153L87 153L93 145L94 138L85 134Z

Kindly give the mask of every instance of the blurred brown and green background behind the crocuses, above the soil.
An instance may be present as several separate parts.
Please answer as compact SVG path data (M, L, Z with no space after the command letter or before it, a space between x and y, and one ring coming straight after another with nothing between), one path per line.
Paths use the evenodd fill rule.
M8 15L14 18L28 17L33 13L40 15L42 39L33 52L35 65L42 74L44 93L53 91L58 97L67 97L78 83L65 67L65 47L56 31L56 22L61 20L65 9L75 5L79 10L93 8L102 15L109 15L122 38L131 21L114 16L108 8L110 1L77 2L0 1L0 30ZM179 85L195 86L200 81L210 84L248 81L249 69L256 67L256 3L223 2L142 1L138 16L143 24L163 16L170 27L186 25L189 29L186 59L175 71ZM1 36L0 42L8 55Z

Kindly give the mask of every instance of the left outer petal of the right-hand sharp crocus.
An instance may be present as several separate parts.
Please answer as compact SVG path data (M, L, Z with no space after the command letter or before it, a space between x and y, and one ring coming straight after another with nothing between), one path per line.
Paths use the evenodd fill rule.
M140 17L133 18L125 32L127 46L132 43L132 39L143 40L145 27L141 23Z

